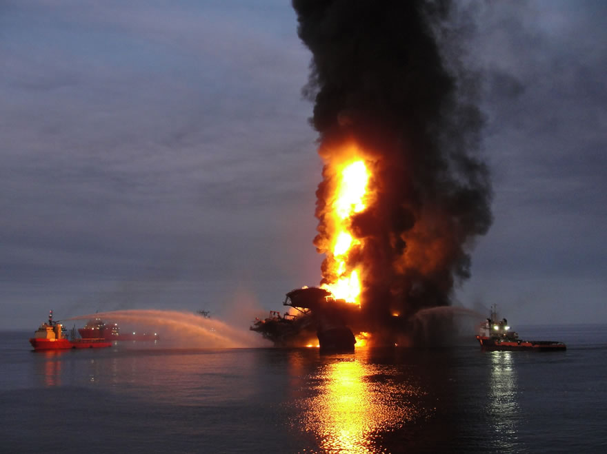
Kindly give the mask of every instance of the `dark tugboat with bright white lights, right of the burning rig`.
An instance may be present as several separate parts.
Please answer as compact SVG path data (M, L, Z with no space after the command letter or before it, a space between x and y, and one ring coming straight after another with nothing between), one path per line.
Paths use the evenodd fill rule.
M497 306L491 308L491 316L481 323L479 334L476 336L481 349L490 351L562 351L567 346L563 342L553 340L521 340L518 333L510 331L508 320L497 319Z

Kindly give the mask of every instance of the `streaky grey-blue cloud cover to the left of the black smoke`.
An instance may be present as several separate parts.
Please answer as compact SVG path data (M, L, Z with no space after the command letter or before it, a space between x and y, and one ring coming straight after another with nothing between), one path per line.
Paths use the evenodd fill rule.
M282 3L7 4L0 300L31 305L43 285L43 305L95 305L139 282L139 303L170 307L147 290L168 280L183 304L206 286L221 305L235 280L261 298L293 287L270 250L304 201L297 241L315 256L319 174L295 27Z

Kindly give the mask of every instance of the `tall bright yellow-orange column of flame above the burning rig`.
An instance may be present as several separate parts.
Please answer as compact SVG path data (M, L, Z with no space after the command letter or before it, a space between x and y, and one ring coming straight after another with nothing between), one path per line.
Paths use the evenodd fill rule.
M359 158L355 147L350 147L349 160L337 164L330 163L335 172L335 187L328 198L326 227L328 243L325 253L325 283L321 286L333 293L335 298L360 304L361 280L359 266L348 263L353 249L361 247L361 240L355 238L351 231L352 215L361 213L370 202L370 172L364 159Z

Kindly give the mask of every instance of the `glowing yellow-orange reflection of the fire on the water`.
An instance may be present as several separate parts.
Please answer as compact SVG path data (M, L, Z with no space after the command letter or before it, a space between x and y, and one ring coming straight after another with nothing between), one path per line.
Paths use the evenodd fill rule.
M378 433L395 431L419 415L410 397L421 391L393 367L334 358L312 374L310 384L316 393L304 399L299 424L326 453L378 452Z

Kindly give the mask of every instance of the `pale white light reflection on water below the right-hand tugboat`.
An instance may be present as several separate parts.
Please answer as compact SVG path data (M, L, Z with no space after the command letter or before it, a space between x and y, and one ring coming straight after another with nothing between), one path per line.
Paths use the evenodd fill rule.
M519 403L517 372L511 351L491 353L489 377L489 409L496 440L504 448L512 447L517 438Z

